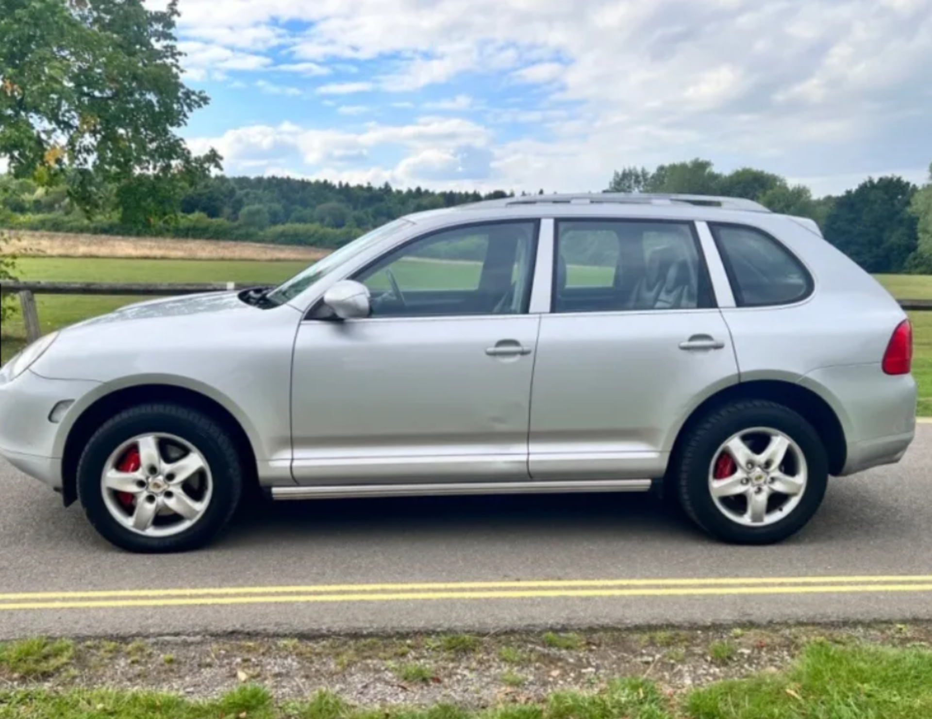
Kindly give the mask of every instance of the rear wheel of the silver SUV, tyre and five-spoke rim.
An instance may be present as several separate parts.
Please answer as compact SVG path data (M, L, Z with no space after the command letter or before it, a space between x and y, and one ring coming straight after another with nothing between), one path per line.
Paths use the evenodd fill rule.
M829 461L815 428L774 402L747 400L702 420L670 480L683 509L712 536L772 544L795 535L822 504Z

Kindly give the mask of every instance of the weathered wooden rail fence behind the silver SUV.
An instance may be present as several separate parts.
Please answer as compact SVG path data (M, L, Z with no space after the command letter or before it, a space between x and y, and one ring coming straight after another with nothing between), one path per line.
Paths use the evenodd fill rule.
M35 306L36 294L84 294L115 295L133 297L172 297L203 292L230 292L246 287L256 287L261 283L205 282L202 284L172 283L107 283L107 282L0 282L0 292L20 295L23 323L26 337L30 342L37 340L42 332L39 325L38 310ZM932 310L932 300L899 300L899 305L909 311Z

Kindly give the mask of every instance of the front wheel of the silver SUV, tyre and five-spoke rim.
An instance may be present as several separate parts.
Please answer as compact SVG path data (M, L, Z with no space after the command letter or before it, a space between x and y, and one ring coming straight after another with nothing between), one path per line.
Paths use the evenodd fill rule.
M135 552L198 549L240 502L236 448L211 417L172 404L130 408L91 437L77 468L89 521Z

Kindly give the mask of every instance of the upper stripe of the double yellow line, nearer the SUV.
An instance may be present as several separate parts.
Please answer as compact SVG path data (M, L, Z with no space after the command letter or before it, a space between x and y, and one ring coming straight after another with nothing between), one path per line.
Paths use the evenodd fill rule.
M786 585L786 584L874 584L874 583L932 582L932 575L919 576L853 576L853 577L695 577L660 579L544 579L528 581L490 582L433 582L404 584L323 584L285 587L218 587L174 590L89 590L39 591L19 594L0 594L2 602L68 599L117 599L152 597L199 597L236 594L311 594L333 592L394 592L394 591L451 591L451 590L554 590L572 588L612 587L714 587L727 585Z

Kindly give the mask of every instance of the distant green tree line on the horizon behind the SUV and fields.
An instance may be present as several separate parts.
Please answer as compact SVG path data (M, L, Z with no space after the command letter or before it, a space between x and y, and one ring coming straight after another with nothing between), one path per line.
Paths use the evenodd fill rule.
M607 191L746 197L770 210L809 217L825 237L876 273L932 273L932 165L929 184L898 176L868 178L837 197L813 197L773 172L742 168L720 173L704 159L654 170L625 168ZM542 192L542 191L541 191ZM410 212L498 197L499 190L434 192L284 177L207 177L181 193L177 214L158 224L128 224L116 206L89 218L62 187L0 177L7 226L60 232L165 235L251 240L332 249ZM0 217L0 222L3 222Z

